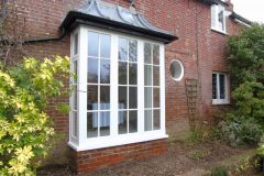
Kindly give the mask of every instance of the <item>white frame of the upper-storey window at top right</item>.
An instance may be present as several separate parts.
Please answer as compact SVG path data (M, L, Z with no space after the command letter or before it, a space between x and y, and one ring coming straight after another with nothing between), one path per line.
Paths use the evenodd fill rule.
M212 14L213 8L215 8L215 14ZM219 13L219 11L221 9L223 9L223 16L222 16L223 18L223 30L219 28L219 16L218 16L218 13ZM221 4L213 4L213 6L211 6L211 18L215 18L215 21L216 21L215 26L212 25L212 22L211 22L211 30L220 32L220 33L223 33L223 34L227 34L227 18L226 18L224 7L221 6ZM211 19L211 21L212 21L212 19Z

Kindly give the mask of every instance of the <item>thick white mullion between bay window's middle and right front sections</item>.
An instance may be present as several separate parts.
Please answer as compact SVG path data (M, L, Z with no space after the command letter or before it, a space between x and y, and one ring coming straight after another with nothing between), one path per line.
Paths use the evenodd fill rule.
M138 41L138 130L144 132L144 43Z

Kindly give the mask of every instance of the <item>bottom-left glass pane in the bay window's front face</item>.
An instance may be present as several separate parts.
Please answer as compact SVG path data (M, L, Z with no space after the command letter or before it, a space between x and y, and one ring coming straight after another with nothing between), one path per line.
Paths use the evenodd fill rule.
M98 136L98 112L87 113L87 138Z

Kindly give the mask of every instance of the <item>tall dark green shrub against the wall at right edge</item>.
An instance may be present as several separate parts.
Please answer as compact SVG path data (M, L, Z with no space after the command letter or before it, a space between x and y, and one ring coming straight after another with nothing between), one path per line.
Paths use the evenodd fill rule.
M264 128L264 25L254 24L230 36L229 70L234 105L228 132L245 143L260 140Z

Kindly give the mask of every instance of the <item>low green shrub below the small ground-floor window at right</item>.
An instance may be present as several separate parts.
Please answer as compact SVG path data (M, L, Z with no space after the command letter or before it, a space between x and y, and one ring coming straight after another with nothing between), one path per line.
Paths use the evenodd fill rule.
M253 118L232 117L220 123L223 136L230 144L257 144L262 127Z

